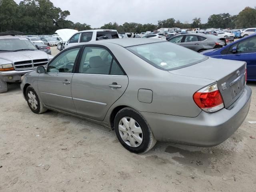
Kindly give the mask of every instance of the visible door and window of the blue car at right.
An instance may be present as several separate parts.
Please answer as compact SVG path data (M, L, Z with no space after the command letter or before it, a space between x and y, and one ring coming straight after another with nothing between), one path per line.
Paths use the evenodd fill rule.
M234 47L236 47L236 52L232 52ZM247 78L256 80L256 36L230 46L226 59L245 61L247 63Z

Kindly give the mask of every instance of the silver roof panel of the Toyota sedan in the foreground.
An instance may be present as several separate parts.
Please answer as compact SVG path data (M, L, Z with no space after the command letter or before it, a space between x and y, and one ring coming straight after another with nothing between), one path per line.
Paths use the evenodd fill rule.
M117 38L117 39L108 39L108 40L100 40L100 41L93 41L87 43L80 43L79 45L88 45L88 44L98 44L107 46L107 44L116 44L122 47L130 47L136 45L143 45L143 44L150 44L156 42L167 42L166 40L158 40L152 38Z

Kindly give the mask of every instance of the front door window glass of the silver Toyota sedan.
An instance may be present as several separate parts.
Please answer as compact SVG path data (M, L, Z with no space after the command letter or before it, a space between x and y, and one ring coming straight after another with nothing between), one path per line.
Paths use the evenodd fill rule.
M48 65L49 73L72 73L73 66L80 48L64 51Z

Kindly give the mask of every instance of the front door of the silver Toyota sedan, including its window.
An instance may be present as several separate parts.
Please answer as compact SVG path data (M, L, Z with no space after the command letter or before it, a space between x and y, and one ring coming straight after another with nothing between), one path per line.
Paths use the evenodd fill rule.
M71 82L80 48L64 50L48 64L46 73L39 74L38 90L46 106L76 113Z

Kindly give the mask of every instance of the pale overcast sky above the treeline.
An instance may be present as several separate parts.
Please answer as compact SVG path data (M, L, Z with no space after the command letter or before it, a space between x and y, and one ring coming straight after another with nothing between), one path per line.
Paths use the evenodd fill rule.
M255 7L254 0L51 0L56 7L70 11L68 20L93 28L109 22L157 24L158 20L174 18L192 23L200 17L206 23L212 14L238 14L246 6ZM15 0L19 3L20 0Z

